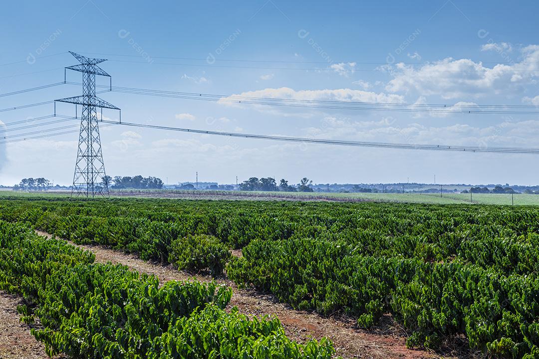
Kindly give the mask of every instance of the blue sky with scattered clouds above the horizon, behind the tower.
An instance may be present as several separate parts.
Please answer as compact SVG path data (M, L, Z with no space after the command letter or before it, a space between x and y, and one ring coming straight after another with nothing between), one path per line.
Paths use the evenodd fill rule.
M101 67L113 85L124 87L309 100L539 105L538 7L531 1L457 0L9 2L0 15L0 93L63 81L63 68L77 64L67 53L74 51L109 59ZM80 74L68 73L68 81L80 81ZM0 108L80 92L79 86L62 85L0 97ZM122 109L124 121L136 123L539 147L537 115L286 109L115 92L101 97ZM43 105L0 112L0 121L9 129L10 122L52 111L52 105ZM74 108L59 105L58 112L71 115ZM118 118L112 111L105 115ZM59 125L48 128L54 126ZM199 180L220 183L234 182L236 175L293 183L305 176L316 183L432 182L436 174L445 183L537 184L538 174L529 154L287 144L121 126L103 128L101 140L108 174L156 175L169 184L194 180L196 171ZM43 176L70 184L76 147L77 133L0 144L0 183Z

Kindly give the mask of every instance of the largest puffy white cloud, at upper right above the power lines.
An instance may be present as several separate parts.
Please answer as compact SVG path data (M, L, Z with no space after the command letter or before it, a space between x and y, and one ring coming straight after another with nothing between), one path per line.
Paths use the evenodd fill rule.
M402 62L382 68L390 71L393 79L386 90L391 92L418 91L420 95L440 95L443 98L483 96L518 91L534 84L539 77L539 45L521 49L522 61L494 67L485 67L470 59L432 62L414 68Z

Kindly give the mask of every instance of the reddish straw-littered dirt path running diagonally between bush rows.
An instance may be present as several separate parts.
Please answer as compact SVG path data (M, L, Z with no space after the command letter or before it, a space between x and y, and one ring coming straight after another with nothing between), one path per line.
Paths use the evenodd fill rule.
M49 234L38 231L38 234L50 237ZM123 264L141 273L154 274L161 283L168 280L187 280L195 278L202 282L213 280L210 276L200 276L178 271L172 266L162 266L142 261L133 255L94 245L76 245L95 254L99 263ZM236 254L238 255L238 254ZM337 355L343 358L433 358L436 357L424 350L411 350L405 347L405 338L398 335L377 334L358 330L353 320L324 318L315 313L297 311L277 302L271 295L257 293L254 290L239 289L236 284L221 277L217 283L232 287L233 295L230 307L237 306L241 313L263 317L274 315L280 319L286 334L297 342L310 339L330 339L335 346ZM0 325L1 329L1 325ZM397 333L396 330L393 330ZM28 356L28 358L33 358Z

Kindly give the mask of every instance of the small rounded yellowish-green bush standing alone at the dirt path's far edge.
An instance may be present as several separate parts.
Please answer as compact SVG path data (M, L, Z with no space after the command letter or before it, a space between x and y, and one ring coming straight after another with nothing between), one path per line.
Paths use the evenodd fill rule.
M170 244L169 262L178 269L189 271L210 270L212 276L222 274L231 257L229 248L210 235L189 235Z

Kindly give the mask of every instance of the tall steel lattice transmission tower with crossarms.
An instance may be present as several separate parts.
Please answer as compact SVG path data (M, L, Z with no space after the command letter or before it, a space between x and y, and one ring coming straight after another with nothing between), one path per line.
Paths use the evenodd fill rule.
M70 53L79 60L80 65L66 67L66 69L82 73L82 96L61 98L56 101L82 105L79 148L71 195L85 196L87 198L95 198L96 195L108 197L108 180L101 152L96 109L101 108L101 121L103 119L103 108L120 109L95 96L95 75L107 76L110 79L110 75L97 66L106 59L91 59L71 51ZM112 86L112 81L110 83Z

